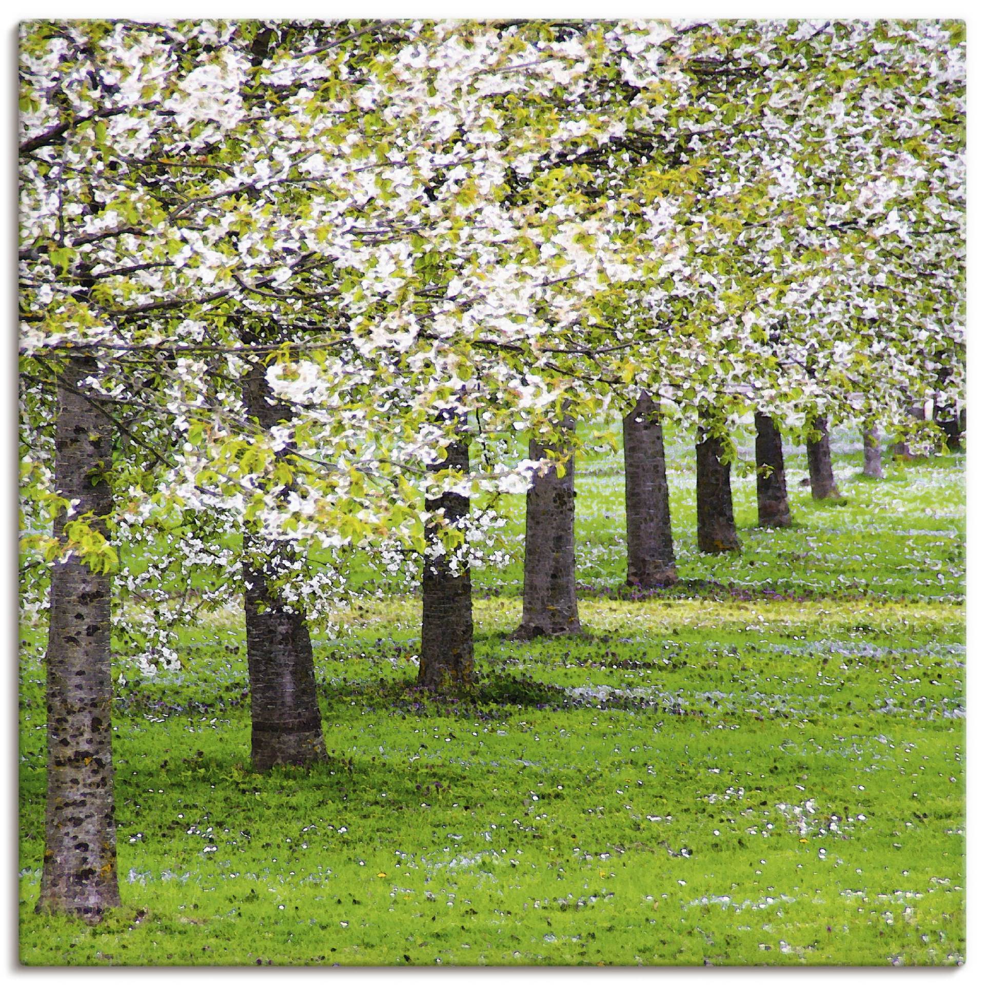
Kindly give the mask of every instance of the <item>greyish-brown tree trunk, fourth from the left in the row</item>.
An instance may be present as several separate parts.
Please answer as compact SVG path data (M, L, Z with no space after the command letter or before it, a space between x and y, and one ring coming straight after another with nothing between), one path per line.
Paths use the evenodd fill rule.
M563 427L573 428L571 422ZM530 457L543 458L554 446L530 441ZM565 449L569 450L569 449ZM523 558L523 622L520 638L581 631L574 590L574 456L537 475L527 492Z

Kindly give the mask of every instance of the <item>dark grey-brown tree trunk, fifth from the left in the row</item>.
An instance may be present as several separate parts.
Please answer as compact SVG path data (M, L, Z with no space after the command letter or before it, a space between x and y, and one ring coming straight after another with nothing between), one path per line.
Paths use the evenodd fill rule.
M660 404L640 394L623 419L626 583L642 588L678 580Z

